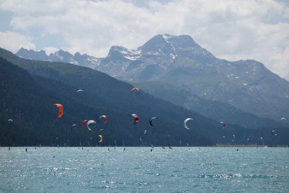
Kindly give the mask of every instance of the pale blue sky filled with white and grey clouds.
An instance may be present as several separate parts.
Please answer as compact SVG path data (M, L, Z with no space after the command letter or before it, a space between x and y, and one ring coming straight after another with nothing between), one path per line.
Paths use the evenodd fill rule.
M0 47L106 57L158 34L190 35L220 59L254 59L289 81L286 0L1 0Z

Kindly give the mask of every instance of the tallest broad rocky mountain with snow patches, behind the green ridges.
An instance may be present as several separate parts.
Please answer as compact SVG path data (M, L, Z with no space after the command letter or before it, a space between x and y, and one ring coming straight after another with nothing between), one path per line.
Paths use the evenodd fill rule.
M255 60L218 59L188 35L157 35L137 50L112 46L96 70L129 82L162 81L261 117L289 114L289 82Z

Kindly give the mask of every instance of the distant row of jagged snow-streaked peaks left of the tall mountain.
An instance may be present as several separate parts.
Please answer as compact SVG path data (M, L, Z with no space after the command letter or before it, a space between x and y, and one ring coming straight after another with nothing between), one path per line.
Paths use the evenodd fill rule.
M76 52L74 55L69 52L64 52L63 50L59 50L54 54L50 53L50 55L46 55L44 50L34 51L32 49L27 50L21 48L15 53L20 58L30 59L30 60L42 60L42 61L50 61L50 62L67 62L70 64L76 64L79 66L85 66L89 68L96 68L103 58L95 58L93 56L87 54L80 54Z

